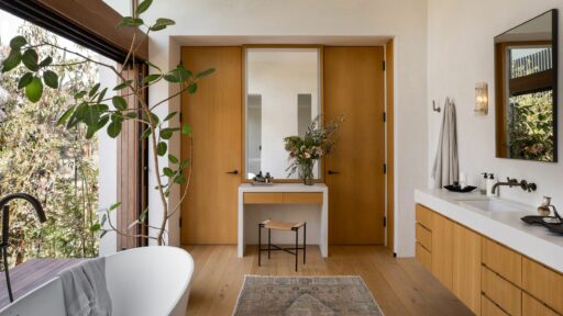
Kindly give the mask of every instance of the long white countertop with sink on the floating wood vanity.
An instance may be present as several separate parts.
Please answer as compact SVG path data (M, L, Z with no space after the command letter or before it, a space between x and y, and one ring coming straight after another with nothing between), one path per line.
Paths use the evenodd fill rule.
M481 195L478 191L475 193L455 193L441 189L415 191L417 203L563 273L563 235L550 233L542 226L528 225L520 219L526 215L538 215L536 207L498 199L522 211L487 212L461 202L461 200L484 199L487 198Z

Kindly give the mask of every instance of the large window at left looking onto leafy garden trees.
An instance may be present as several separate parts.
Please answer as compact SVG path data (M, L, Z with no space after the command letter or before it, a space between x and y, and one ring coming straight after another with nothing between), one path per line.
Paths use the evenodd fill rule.
M103 58L0 10L0 60L9 53L7 42L18 34L36 43L56 43L93 58ZM59 88L45 89L40 102L26 101L18 90L15 78L26 71L24 67L0 75L0 196L30 193L42 202L47 215L47 223L40 226L31 208L23 203L12 203L11 264L33 257L97 256L98 236L90 228L98 223L98 208L115 199L115 184L98 181L100 172L107 171L100 170L100 166L108 170L114 168L114 146L107 138L87 139L84 126L74 129L56 126L76 92L99 80L113 87L115 77L100 71L93 64L79 63L71 54L47 49L38 52L40 60L51 55L53 65L65 66L53 67ZM99 151L104 146L110 153L106 150L100 163ZM114 170L111 171L114 178ZM103 190L103 187L111 190ZM109 201L99 201L104 200L104 195L109 195Z

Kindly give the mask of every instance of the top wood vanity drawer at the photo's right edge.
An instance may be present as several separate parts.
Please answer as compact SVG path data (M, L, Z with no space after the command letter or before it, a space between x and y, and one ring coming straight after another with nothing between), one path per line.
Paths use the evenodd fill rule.
M563 314L563 275L528 258L522 259L522 289Z

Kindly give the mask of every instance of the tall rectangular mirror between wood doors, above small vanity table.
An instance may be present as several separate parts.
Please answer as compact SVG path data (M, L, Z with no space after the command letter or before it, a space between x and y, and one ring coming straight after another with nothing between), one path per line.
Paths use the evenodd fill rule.
M306 47L245 49L245 179L260 171L288 179L284 138L303 136L321 114L321 54L320 48Z

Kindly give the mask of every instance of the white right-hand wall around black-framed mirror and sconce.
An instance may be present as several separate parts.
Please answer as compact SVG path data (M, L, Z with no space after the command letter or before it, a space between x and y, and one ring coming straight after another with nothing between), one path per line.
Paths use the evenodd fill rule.
M563 11L561 0L429 0L428 8L428 174L440 128L441 115L430 110L431 100L443 104L452 97L457 110L460 170L478 184L478 173L488 171L506 177L527 179L538 183L538 191L500 188L503 198L539 205L543 195L553 196L553 203L563 205L562 163L544 163L495 158L495 75L493 38L550 9ZM561 25L561 20L560 20ZM560 43L563 32L560 26ZM560 60L563 49L560 44ZM560 63L559 75L563 75ZM475 83L488 82L489 114L473 113ZM559 91L563 80L560 80ZM561 92L560 92L561 93ZM561 100L561 99L560 99ZM561 102L559 104L561 106ZM559 114L562 122L561 110ZM559 132L559 155L563 155L563 137ZM560 158L561 159L561 158ZM498 179L498 177L497 177ZM429 177L429 185L432 180Z

